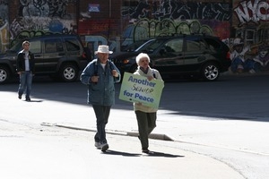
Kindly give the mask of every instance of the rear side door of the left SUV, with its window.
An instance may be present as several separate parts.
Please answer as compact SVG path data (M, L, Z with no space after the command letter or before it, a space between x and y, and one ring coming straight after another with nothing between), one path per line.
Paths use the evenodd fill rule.
M61 38L44 40L44 61L42 72L56 72L58 62L65 58L65 49Z

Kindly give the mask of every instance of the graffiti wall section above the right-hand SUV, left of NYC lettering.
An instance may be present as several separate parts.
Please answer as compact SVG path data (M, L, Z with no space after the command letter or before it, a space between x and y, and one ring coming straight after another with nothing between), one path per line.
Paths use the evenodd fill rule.
M122 8L122 17L126 27L124 46L143 38L175 33L230 37L231 7L228 3L138 0Z

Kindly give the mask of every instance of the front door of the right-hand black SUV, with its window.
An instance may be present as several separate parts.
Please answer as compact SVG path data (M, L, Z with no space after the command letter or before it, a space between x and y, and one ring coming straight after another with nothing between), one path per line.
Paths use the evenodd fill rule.
M152 56L152 67L163 74L177 74L184 64L183 38L169 38Z

